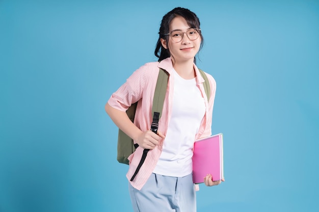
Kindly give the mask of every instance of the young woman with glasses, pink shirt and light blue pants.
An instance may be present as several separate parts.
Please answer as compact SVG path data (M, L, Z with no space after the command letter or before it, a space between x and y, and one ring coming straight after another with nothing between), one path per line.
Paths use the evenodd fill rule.
M105 110L113 122L139 144L129 157L127 178L131 179L143 150L150 149L129 194L134 211L196 211L192 179L194 141L211 135L216 82L207 74L211 95L207 100L203 81L195 65L202 47L200 22L195 13L175 8L162 19L155 48L158 62L136 70L111 96ZM157 134L150 130L152 102L159 68L169 73L169 82ZM127 108L138 102L134 124ZM221 183L207 174L206 186Z

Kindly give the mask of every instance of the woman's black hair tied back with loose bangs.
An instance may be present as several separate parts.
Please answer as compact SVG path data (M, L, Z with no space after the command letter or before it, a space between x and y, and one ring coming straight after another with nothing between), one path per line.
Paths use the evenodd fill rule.
M171 53L169 51L169 46L167 45L167 49L162 46L161 38L165 39L166 43L168 44L169 36L164 36L166 34L169 34L170 32L170 24L172 20L177 17L181 16L183 17L188 25L192 28L200 28L200 22L195 13L190 11L189 9L176 7L170 12L168 12L165 16L163 16L161 26L159 27L159 38L156 43L154 54L156 57L158 57L158 61L161 61L163 59L166 59L167 57L171 56ZM200 48L203 46L203 36L202 33L199 31L199 35L201 37L201 44ZM194 58L194 63L196 63L196 58Z

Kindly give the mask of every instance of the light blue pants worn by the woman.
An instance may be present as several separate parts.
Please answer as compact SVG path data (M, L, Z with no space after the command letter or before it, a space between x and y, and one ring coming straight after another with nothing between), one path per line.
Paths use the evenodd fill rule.
M170 177L152 173L139 191L128 184L134 212L196 212L192 174Z

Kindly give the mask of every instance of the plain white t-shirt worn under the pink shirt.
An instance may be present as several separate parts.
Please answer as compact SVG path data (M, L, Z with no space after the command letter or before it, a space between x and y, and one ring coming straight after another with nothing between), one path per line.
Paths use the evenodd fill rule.
M205 114L205 102L196 78L183 79L174 71L172 116L163 144L163 152L154 173L182 177L193 171L195 135Z

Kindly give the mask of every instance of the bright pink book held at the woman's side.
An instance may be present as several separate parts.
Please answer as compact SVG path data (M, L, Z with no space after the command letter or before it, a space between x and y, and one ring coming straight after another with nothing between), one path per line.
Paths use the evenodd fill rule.
M214 181L224 178L222 133L196 140L193 153L194 184L204 183L207 174Z

